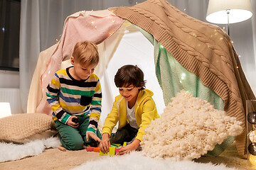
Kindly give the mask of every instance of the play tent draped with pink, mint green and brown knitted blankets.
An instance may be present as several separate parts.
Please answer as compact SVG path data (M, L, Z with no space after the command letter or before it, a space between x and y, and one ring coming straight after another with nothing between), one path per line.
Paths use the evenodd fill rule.
M117 52L126 31L132 32L134 28L151 42L149 48L153 49L153 55L148 56L148 60L142 59L142 55L134 55L132 59L131 53L131 64L139 60L142 60L141 63L154 62L153 67L148 64L146 69L156 73L155 79L161 87L160 92L154 93L162 93L164 101L159 101L161 97L156 101L167 104L181 89L192 91L193 96L209 101L215 108L240 120L245 129L245 101L255 99L255 96L242 72L230 38L217 26L191 18L164 0L149 0L132 7L104 11L80 11L68 16L58 44L39 56L28 96L28 113L51 113L46 102L46 86L60 69L61 63L70 58L76 42L90 40L97 43L100 64L95 72L104 81L112 79L110 75L115 74L112 62L117 60L116 57L124 55L129 61L129 47L132 45L124 45L119 55ZM138 54L150 51L144 44L134 47ZM119 60L118 63L124 64L124 61ZM154 91L154 88L149 89ZM110 98L113 96L110 95ZM241 157L245 157L245 138L245 130L235 137ZM233 139L228 139L227 143L230 142Z

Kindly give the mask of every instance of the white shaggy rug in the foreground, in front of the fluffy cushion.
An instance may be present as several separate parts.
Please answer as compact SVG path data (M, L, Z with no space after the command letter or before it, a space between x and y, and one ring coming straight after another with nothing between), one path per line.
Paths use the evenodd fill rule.
M132 152L124 156L102 156L101 159L85 162L72 170L144 170L144 169L168 169L168 170L238 170L228 168L223 164L203 164L192 161L171 161L168 159L156 159L144 157L142 152Z

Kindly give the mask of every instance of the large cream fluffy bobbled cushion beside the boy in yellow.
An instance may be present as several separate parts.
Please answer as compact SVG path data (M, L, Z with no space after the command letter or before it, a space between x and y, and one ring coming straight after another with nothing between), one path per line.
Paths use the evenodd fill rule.
M171 101L161 118L145 130L142 152L148 157L199 158L228 136L242 132L242 123L191 92L183 90Z

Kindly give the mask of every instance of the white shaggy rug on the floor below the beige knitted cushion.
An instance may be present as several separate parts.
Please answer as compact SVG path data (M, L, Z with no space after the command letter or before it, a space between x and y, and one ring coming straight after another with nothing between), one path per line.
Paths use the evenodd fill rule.
M34 140L23 145L0 142L0 162L14 161L24 157L41 154L46 148L59 147L58 137L49 137L45 140Z

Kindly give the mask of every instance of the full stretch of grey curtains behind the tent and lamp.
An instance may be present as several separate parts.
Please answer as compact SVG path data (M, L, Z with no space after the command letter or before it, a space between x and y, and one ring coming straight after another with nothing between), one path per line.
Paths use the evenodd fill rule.
M111 6L133 6L142 1L116 0L21 0L20 89L26 113L28 91L39 53L60 40L65 18L77 11L101 10ZM170 4L193 18L206 21L208 0L169 0ZM253 16L230 25L230 38L240 55L242 69L256 93L256 2L251 1ZM219 25L220 28L225 25Z

